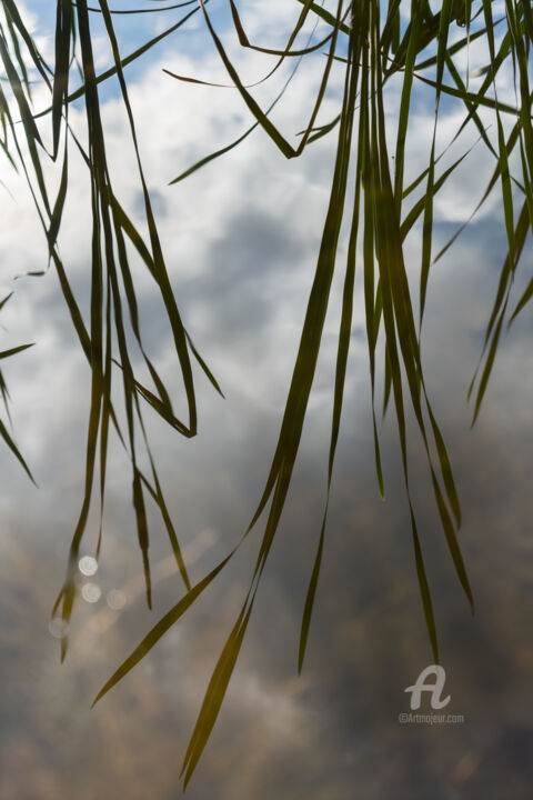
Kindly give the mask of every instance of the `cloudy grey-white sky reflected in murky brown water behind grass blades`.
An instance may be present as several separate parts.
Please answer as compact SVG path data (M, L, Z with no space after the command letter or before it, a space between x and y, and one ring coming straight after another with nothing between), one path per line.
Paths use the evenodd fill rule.
M214 59L184 53L172 58L178 72L193 74L201 68L213 78L221 74ZM162 62L173 67L168 59ZM228 397L222 402L199 381L201 431L192 442L169 438L157 422L151 426L169 507L197 580L238 540L266 473L328 199L333 142L324 140L302 160L285 163L258 134L227 160L168 188L169 178L221 138L231 141L248 122L232 92L192 91L161 76L159 67L132 89L141 114L141 148L150 186L159 192L160 210L165 209L161 231L180 309ZM299 87L283 119L288 130L309 94L306 79ZM178 131L174 114L165 112L170 108L184 120ZM110 101L104 116L121 198L138 213L120 104ZM413 177L430 119L421 120L409 140ZM73 122L80 126L76 114ZM477 161L473 163L481 188ZM87 197L83 167L74 153L72 170L72 204L61 248L87 304ZM454 187L462 208L472 186ZM41 267L43 254L26 194L16 181L14 188L18 206L2 200L7 282L12 274ZM440 212L450 220L453 192L446 202ZM435 236L445 240L447 228L439 228ZM408 247L415 274L414 237ZM496 362L486 406L472 432L464 402L503 256L492 219L460 240L433 270L424 323L428 386L463 499L461 541L476 597L474 619L440 532L420 443L414 437L410 441L414 501L449 691L465 724L408 730L396 722L405 710L403 689L426 664L430 651L390 421L383 429L386 503L378 497L368 366L359 342L349 374L308 660L303 677L294 678L300 614L324 497L335 357L335 338L328 336L290 502L234 680L188 790L193 800L411 799L421 791L423 797L453 798L464 791L495 800L506 781L513 800L527 797L531 767L523 753L531 748L533 704L532 419L531 386L524 377L531 373L525 327L507 337L505 362ZM147 342L172 384L174 361L159 299L140 266L134 269L143 291ZM334 290L333 302L336 284ZM360 292L361 286L358 300ZM361 306L356 314L354 328L361 324ZM98 572L102 598L93 610L77 607L72 652L59 668L47 614L81 497L88 370L73 347L53 276L20 281L4 322L13 341L38 341L9 368L18 440L36 464L41 489L29 487L1 451L1 669L9 688L0 699L2 798L56 800L76 793L82 800L95 794L170 800L178 796L180 756L242 602L261 529L252 531L243 553L182 623L89 712L97 688L181 597L182 584L179 577L161 580L157 611L143 609L137 533L123 482L127 462L113 449ZM328 333L334 333L333 314L326 326ZM220 538L201 552L199 533L214 528ZM97 523L88 530L89 549L97 530ZM157 563L167 576L169 566L174 567L164 532L153 522L151 534L154 576ZM131 602L135 592L124 591L130 604L122 613L104 608L108 593L124 586L138 586L137 602ZM113 623L100 624L99 619Z

